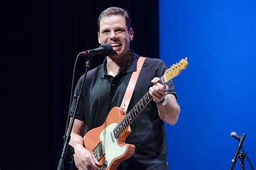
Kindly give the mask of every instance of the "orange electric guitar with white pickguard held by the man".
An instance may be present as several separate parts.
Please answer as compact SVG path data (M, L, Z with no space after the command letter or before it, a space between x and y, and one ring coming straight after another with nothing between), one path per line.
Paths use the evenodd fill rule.
M170 81L186 69L187 65L187 58L182 59L167 69L158 82L164 84ZM85 134L84 147L92 152L102 165L98 169L117 169L120 162L132 156L135 146L125 144L126 137L131 133L130 124L151 100L152 97L147 91L126 115L119 107L112 108L102 126Z

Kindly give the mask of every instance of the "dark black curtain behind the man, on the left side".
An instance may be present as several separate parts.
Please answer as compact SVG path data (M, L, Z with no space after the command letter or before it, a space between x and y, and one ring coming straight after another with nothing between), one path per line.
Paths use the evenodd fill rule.
M158 58L158 1L8 1L2 5L1 169L57 168L75 59L79 52L99 46L97 18L110 6L130 12L131 48ZM103 60L95 56L90 69ZM74 85L84 69L85 58L79 58Z

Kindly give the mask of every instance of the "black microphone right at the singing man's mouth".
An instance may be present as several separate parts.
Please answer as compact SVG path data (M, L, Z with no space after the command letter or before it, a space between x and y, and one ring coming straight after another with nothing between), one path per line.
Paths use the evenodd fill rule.
M113 52L113 47L110 44L102 44L99 46L99 48L90 49L87 51L80 52L78 55L87 56L88 58L96 55L96 54L104 54L104 55L110 55Z

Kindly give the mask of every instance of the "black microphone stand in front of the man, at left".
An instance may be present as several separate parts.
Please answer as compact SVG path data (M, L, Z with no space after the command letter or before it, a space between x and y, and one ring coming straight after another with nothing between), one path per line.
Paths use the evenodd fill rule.
M73 164L73 154L75 154L75 152L74 152L75 150L71 145L69 145L69 141L70 141L70 138L71 138L71 131L72 131L72 128L73 128L73 124L75 122L75 115L76 115L77 105L78 105L78 102L79 102L79 99L80 99L80 96L82 94L82 90L83 90L83 87L84 87L84 81L85 81L85 77L87 75L87 70L91 66L91 58L87 58L85 66L86 66L86 69L85 69L85 73L84 73L82 87L79 91L79 96L77 96L77 103L76 103L75 110L73 112L73 116L72 116L72 119L71 119L71 123L70 123L69 129L68 129L68 132L66 133L66 135L64 137L64 140L65 140L64 141L64 146L63 146L63 150L62 150L62 155L60 156L60 159L59 159L59 164L58 164L57 170L62 169L62 166L64 165L64 160L66 158L66 153L67 152L69 153L70 158L71 158L71 161L69 162L71 164L70 169L72 169L72 166L73 166L72 165Z

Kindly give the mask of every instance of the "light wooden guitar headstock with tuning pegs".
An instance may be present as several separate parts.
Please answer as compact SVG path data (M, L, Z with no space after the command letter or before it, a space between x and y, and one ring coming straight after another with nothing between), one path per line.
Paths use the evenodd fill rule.
M179 61L178 63L172 65L169 69L165 71L163 75L164 83L170 81L171 79L179 75L183 69L187 68L187 65L188 65L188 62L186 57L181 61Z

